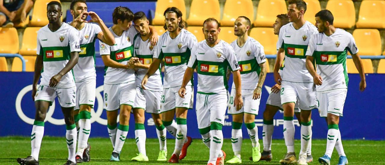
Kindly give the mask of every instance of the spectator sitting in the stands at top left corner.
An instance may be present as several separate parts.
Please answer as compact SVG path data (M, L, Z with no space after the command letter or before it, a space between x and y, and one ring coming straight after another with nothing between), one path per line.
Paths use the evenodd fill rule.
M24 22L35 0L0 0L0 26L13 27Z

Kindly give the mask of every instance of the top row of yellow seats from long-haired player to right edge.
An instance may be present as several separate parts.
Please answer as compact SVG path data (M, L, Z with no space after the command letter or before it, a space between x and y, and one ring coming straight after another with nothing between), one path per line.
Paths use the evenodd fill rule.
M315 14L321 10L318 0L305 0L307 10L305 19L315 24ZM163 25L163 12L167 7L177 7L186 17L184 0L158 0L153 25ZM364 0L360 6L358 28L385 28L385 1ZM326 9L334 15L335 27L350 29L356 22L355 8L352 0L329 0ZM203 12L204 11L204 12ZM253 21L256 27L271 27L276 15L287 13L285 0L260 0L257 8L257 16L254 18L253 2L251 0L226 0L223 9L223 19L220 20L220 7L218 0L192 0L187 23L200 26L209 17L220 20L223 26L232 26L238 16L246 16Z

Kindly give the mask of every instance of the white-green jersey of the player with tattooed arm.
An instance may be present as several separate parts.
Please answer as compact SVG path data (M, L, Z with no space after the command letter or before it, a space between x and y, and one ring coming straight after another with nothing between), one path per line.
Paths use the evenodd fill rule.
M235 57L239 67L241 67L239 72L241 72L242 89L254 90L258 85L259 73L261 72L259 64L266 62L263 46L251 37L248 37L242 47L238 46L237 40L231 42L230 45L233 47ZM235 89L234 82L232 88Z

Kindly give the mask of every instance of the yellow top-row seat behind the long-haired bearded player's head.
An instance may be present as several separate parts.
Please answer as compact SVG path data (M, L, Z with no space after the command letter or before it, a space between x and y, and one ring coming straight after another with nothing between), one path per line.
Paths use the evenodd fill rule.
M156 2L155 17L152 20L152 25L164 24L164 11L169 7L176 7L182 12L182 19L186 20L186 6L184 0L158 0Z

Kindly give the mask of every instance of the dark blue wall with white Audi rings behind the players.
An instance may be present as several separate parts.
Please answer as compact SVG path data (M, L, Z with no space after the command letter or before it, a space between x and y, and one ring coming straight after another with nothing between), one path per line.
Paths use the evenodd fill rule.
M103 110L103 68L97 67L97 89L95 107L91 113L92 132L91 137L107 137L107 120ZM196 77L196 73L194 77ZM0 72L0 86L3 87L1 95L0 136L30 136L33 119L35 116L34 103L32 101L32 79L33 72ZM385 132L380 131L385 123L385 93L383 84L385 74L367 74L367 89L364 92L358 90L360 77L358 74L349 74L348 94L346 97L343 118L340 120L340 129L344 139L366 139L366 140L385 140ZM197 84L197 80L194 80ZM232 84L230 77L229 85ZM273 74L268 73L264 83L261 104L259 106L259 115L255 123L258 126L258 135L262 138L262 114L265 103L268 98L268 91L273 86ZM195 87L196 94L196 87ZM46 122L45 135L65 136L65 126L63 115L60 110L59 102L55 101L50 107ZM195 105L194 109L189 110L187 116L188 135L192 138L201 138L196 121ZM324 118L320 118L318 111L313 110L313 138L326 138L327 126ZM300 139L300 125L295 120L296 134L295 138ZM275 131L273 138L283 139L283 113L278 112L274 120ZM148 138L156 138L156 128L150 114L146 113L145 126ZM247 130L243 127L243 136L247 137ZM231 137L231 115L226 114L226 120L223 127L224 138ZM167 135L168 138L173 138ZM134 138L134 118L131 117L129 138Z

